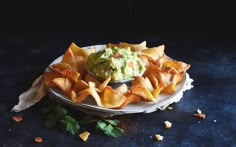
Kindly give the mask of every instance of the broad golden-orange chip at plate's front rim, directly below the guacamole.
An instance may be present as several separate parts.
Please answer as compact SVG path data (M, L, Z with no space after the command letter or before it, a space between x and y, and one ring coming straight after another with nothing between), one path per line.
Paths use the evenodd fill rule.
M104 89L100 97L104 108L119 108L127 100L123 94L109 86Z

